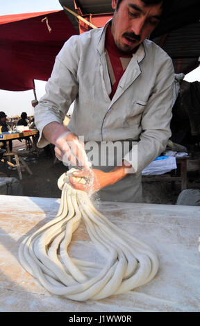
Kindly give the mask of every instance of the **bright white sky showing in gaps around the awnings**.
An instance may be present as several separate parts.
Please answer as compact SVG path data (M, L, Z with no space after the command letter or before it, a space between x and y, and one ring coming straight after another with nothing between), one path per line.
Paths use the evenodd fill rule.
M12 15L22 12L39 12L62 9L58 0L9 0L0 1L0 15ZM199 53L200 55L200 53ZM185 76L190 82L200 81L200 67ZM46 82L35 80L35 89L38 99L45 93ZM0 89L0 111L6 112L8 117L21 114L33 114L31 101L34 99L33 90L25 92L10 92Z

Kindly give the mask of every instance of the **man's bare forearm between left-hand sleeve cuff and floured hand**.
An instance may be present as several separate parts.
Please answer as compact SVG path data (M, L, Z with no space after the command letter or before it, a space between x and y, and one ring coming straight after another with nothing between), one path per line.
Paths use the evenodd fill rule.
M56 139L60 137L65 132L70 132L70 130L61 125L60 123L53 121L47 124L43 129L43 136L45 139L50 141L51 144L56 144Z

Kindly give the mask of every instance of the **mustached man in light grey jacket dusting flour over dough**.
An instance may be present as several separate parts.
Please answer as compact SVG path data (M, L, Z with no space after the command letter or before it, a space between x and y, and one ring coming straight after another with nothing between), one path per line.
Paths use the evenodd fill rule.
M41 135L38 146L51 142L60 160L67 156L72 164L85 167L74 176L90 175L78 136L86 144L97 141L99 146L105 141L138 141L137 153L135 148L126 150L122 164L116 164L114 157L113 166L97 164L92 169L92 191L99 190L102 200L141 202L141 171L160 155L171 135L172 60L147 40L160 22L165 2L112 0L114 16L104 28L73 36L65 43L47 94L35 109ZM74 100L74 112L65 128L63 119ZM136 154L138 160L134 160ZM70 182L76 189L91 190L73 177Z

